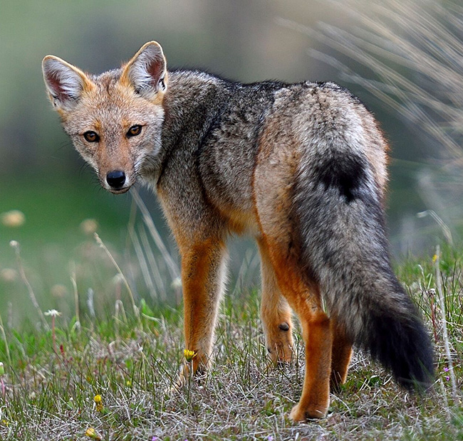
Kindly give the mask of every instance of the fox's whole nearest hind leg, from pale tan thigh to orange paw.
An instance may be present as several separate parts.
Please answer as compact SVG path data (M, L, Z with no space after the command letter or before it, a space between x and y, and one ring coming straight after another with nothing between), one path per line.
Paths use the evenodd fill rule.
M298 315L306 345L306 374L301 400L291 411L295 421L323 418L330 403L330 319L321 307L321 294L308 262L301 260L301 228L294 216L293 191L298 150L278 121L267 122L254 171L254 203L261 230L261 248L274 268L281 293ZM310 232L309 232L310 233ZM265 253L263 253L265 254Z

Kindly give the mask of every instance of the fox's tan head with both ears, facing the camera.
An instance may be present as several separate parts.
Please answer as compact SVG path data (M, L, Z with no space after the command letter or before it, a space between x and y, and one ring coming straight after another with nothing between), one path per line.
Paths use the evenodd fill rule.
M146 43L122 68L88 75L61 58L42 62L48 95L64 130L101 185L125 193L160 149L167 68L161 46Z

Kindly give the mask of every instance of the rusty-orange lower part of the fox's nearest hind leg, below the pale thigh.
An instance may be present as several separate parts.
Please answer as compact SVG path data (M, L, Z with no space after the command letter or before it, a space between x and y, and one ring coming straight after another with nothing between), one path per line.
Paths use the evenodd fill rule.
M301 321L306 346L306 374L301 400L291 411L291 418L295 421L323 418L330 403L333 344L330 319L323 312L318 285L299 264L291 223L284 225L285 219L281 213L266 216L264 211L259 221L262 230L261 255L264 258L268 256L281 293ZM273 319L273 322L276 324L278 320Z

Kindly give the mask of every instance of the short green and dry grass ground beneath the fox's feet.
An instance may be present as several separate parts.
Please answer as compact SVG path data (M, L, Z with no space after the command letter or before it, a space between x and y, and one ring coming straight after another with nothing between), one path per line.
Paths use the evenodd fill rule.
M1 308L0 439L463 440L462 269L463 255L447 248L397 267L435 339L430 393L410 395L356 351L328 417L298 425L288 413L301 393L301 337L290 366L269 367L255 290L224 299L212 371L176 393L169 390L183 356L180 307L152 310L135 300L137 319L125 289L106 280L113 299L96 307L80 299L80 323L32 308L28 321L11 326ZM72 311L72 296L68 302Z

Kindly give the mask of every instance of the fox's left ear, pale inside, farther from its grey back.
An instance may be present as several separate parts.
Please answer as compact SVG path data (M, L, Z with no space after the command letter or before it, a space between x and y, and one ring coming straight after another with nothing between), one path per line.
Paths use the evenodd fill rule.
M56 110L73 110L83 90L93 87L82 70L53 55L43 58L42 70L50 100Z

